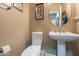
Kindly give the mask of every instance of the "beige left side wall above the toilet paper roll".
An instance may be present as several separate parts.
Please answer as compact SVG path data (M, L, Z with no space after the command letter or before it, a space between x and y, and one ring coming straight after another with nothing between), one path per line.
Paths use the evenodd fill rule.
M29 4L23 4L23 13L15 8L0 8L0 47L11 46L7 55L21 55L29 40Z

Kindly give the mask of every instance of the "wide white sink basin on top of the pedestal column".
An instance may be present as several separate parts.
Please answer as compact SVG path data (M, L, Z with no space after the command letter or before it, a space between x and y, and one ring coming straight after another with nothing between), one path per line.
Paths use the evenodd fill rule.
M77 40L79 35L71 32L49 32L49 37L53 40L73 41Z

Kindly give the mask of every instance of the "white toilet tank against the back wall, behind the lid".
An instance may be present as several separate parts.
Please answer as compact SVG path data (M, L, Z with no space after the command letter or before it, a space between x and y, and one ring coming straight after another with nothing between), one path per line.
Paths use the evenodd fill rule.
M43 32L32 32L32 45L41 45L43 40Z

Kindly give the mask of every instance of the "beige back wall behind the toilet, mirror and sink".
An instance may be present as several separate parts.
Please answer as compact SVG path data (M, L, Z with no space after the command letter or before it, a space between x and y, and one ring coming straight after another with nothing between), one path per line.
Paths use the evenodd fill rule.
M43 47L56 49L56 41L51 40L48 36L48 33L50 31L75 32L75 21L74 21L74 17L76 16L75 4L71 4L71 7L72 7L72 14L68 23L66 25L63 25L62 27L56 27L53 24L51 24L48 18L48 11L50 8L50 4L44 4L44 19L43 20L35 20L35 4L30 5L30 32L42 31L44 33ZM74 47L72 47L72 45ZM67 47L68 49L71 49L75 55L76 53L75 42L67 42Z

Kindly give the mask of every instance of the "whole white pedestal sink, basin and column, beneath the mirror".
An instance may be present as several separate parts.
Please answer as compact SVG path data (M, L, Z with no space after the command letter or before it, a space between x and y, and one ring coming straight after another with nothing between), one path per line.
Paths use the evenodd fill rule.
M79 35L71 32L49 32L49 37L57 40L57 55L66 56L65 42L77 40Z

